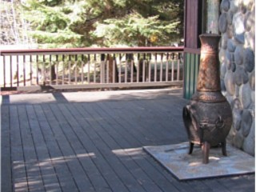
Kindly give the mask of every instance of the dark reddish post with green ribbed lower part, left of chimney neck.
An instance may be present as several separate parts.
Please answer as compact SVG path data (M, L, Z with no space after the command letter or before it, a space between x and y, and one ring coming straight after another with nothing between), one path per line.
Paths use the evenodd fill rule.
M202 17L203 0L185 1L185 48L184 48L184 98L191 98L196 90L198 66L200 62L199 34L204 32L205 21Z

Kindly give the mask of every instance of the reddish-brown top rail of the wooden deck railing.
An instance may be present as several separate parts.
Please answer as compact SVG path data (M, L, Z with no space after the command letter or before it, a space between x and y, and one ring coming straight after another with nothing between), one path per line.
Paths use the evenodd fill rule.
M0 50L0 55L31 55L31 54L114 54L114 53L162 53L182 52L183 46L138 46L125 48L56 48L56 49L17 49Z

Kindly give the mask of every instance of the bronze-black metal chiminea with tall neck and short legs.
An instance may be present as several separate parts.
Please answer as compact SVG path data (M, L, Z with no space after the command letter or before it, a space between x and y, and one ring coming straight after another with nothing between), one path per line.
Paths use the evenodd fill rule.
M218 34L201 34L201 56L197 91L183 108L183 122L190 141L202 146L202 162L209 162L210 147L221 146L226 156L226 136L232 125L230 104L221 93Z

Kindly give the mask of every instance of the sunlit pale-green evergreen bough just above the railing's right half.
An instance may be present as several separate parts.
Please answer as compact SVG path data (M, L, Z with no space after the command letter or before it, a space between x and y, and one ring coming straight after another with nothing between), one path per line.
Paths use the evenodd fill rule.
M111 18L96 23L94 36L101 38L105 46L156 46L164 45L176 37L176 26L180 22L161 22L158 16L143 18L140 14L130 14L123 19Z

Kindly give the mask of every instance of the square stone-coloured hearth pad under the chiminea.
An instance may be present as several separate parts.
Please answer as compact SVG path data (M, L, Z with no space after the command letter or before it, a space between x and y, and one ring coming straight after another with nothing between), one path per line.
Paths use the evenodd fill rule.
M227 156L222 155L221 147L210 148L208 164L202 163L202 150L199 146L194 146L193 153L187 154L188 142L144 146L143 149L179 180L253 174L255 171L255 158L229 144L226 145Z

